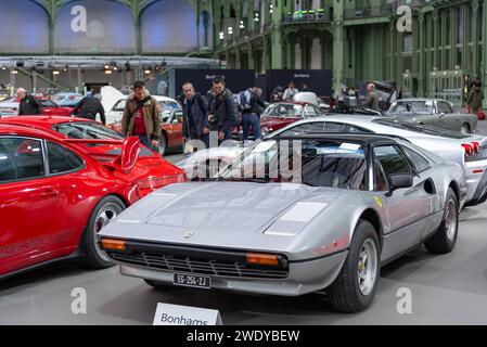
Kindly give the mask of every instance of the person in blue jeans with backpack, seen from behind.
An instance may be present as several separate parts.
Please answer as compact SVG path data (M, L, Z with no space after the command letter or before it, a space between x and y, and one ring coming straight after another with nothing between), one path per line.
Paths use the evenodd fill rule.
M260 100L262 90L254 87L240 92L239 108L242 112L243 141L248 140L248 130L252 127L254 140L261 138L260 114L266 108L266 104Z

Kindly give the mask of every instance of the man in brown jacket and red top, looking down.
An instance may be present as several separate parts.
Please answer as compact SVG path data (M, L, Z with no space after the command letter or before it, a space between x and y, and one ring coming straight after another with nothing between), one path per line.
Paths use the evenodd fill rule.
M163 119L161 105L151 97L142 81L133 85L121 118L121 133L126 137L139 137L148 147L157 147L162 133Z

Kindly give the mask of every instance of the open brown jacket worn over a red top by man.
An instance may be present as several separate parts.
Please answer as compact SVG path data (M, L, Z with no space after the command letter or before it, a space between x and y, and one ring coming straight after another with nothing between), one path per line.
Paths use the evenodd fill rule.
M159 140L162 132L163 118L161 115L161 106L154 98L145 90L144 99L151 98L144 103L144 123L150 140ZM124 117L121 118L121 133L126 137L133 136L133 125L136 123L134 113L138 107L139 100L134 93L131 93L125 105Z

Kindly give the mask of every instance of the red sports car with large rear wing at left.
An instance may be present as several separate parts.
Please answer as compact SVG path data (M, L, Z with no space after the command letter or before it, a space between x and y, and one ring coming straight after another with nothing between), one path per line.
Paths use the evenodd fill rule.
M94 121L1 119L0 278L64 258L112 266L98 232L153 190L185 180L137 138Z

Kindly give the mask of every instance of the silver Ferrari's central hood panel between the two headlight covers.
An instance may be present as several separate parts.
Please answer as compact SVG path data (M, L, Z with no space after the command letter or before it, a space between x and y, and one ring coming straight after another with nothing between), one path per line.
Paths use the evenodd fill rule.
M312 190L297 184L195 184L191 192L161 207L145 222L200 231L262 232L274 217Z

